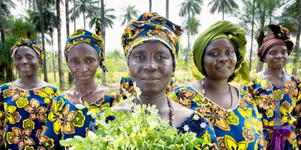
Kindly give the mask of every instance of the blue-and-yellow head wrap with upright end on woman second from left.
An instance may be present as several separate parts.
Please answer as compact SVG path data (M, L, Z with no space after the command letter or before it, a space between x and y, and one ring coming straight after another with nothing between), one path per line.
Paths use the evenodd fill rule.
M64 56L65 60L67 62L67 56L69 51L74 47L76 44L79 43L89 43L91 46L95 48L97 53L99 54L100 59L100 68L104 72L108 72L108 69L104 66L104 57L103 57L103 44L104 41L101 39L101 23L100 18L95 19L95 33L91 33L84 29L78 29L73 33L66 42L65 50L64 50Z

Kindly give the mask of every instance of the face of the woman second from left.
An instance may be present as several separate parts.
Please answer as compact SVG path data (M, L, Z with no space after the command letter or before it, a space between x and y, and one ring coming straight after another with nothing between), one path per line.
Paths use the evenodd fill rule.
M81 84L94 81L100 60L97 51L88 43L76 44L67 56L67 65L75 80Z

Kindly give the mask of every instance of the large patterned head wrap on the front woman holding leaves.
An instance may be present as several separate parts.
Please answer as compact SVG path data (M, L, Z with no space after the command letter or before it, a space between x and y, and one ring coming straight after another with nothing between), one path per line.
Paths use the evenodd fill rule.
M167 18L157 13L144 13L138 19L126 26L121 37L121 45L125 57L130 57L134 47L143 42L160 41L168 46L174 57L174 69L178 57L180 35L183 30L180 26L173 24Z

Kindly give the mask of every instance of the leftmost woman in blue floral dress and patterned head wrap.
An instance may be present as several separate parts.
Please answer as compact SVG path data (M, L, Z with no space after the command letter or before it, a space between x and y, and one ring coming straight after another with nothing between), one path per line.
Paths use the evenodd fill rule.
M0 142L3 149L46 149L39 144L50 106L60 90L38 78L44 53L21 38L11 48L20 79L0 86Z

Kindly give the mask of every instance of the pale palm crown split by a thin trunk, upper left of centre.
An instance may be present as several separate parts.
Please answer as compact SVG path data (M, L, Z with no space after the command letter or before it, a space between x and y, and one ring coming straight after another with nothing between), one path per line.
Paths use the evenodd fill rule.
M114 26L114 19L116 19L117 17L115 15L111 15L109 13L114 12L115 9L106 9L105 8L106 5L104 5L104 19L105 19L105 27L104 28L108 28L110 27L111 29L113 29ZM97 11L94 14L92 14L91 17L91 21L89 22L89 27L92 28L95 25L95 19L100 16L101 12ZM102 26L103 27L103 26Z

